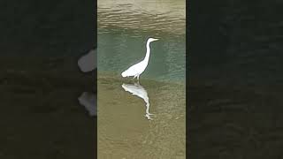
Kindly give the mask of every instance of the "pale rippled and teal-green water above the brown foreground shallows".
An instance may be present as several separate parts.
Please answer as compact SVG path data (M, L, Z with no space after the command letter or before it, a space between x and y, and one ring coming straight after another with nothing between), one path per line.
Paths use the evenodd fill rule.
M120 74L142 60L149 37L149 65L141 78L185 81L185 1L98 2L98 70Z

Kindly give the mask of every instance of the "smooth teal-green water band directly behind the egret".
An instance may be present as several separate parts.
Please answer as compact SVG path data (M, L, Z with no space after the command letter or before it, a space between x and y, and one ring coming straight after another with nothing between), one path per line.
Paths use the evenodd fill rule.
M121 30L98 34L98 69L100 72L123 72L145 56L149 36L160 40L151 42L149 65L141 78L163 81L185 80L184 36L173 34L133 36Z

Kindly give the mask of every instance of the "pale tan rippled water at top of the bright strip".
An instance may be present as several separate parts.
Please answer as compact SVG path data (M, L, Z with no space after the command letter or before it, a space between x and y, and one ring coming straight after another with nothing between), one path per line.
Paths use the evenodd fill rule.
M99 0L97 11L99 33L109 33L119 27L127 31L131 29L132 35L137 37L141 33L185 34L184 0Z

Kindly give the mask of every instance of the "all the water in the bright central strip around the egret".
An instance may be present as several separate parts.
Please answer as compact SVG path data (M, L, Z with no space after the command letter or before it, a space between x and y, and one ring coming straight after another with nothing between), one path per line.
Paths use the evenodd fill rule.
M185 1L98 1L98 158L185 158ZM149 65L140 84L120 73Z

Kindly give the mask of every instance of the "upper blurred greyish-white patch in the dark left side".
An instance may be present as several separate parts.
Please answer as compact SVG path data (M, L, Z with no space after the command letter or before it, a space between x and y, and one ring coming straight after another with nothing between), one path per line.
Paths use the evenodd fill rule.
M81 72L91 72L96 69L96 49L91 49L88 54L80 57L78 65Z

